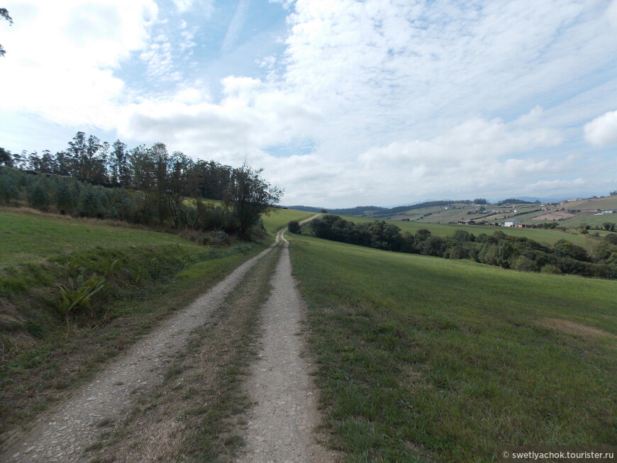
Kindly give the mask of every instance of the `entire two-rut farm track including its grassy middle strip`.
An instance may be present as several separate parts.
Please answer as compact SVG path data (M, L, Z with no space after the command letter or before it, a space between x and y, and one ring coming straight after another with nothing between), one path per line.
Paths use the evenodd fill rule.
M6 443L0 460L224 458L243 441L238 461L335 459L313 435L316 391L310 362L301 355L302 305L283 233L55 411L43 413L30 431ZM212 428L209 420L220 426Z

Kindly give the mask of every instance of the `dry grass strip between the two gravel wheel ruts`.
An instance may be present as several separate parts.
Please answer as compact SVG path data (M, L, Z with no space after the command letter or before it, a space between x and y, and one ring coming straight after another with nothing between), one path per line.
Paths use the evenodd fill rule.
M94 461L233 459L243 445L237 432L242 413L250 406L242 379L257 352L260 308L281 249L257 262L216 311L213 323L193 333L163 383L140 398L127 420L102 433L91 448Z

